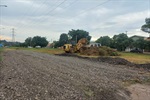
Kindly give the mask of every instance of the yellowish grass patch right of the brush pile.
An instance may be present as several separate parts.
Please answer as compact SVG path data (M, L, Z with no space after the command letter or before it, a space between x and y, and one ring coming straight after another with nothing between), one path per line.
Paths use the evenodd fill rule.
M121 58L124 58L136 64L150 63L150 54L126 53L126 52L120 52L119 54L121 55L120 56Z

